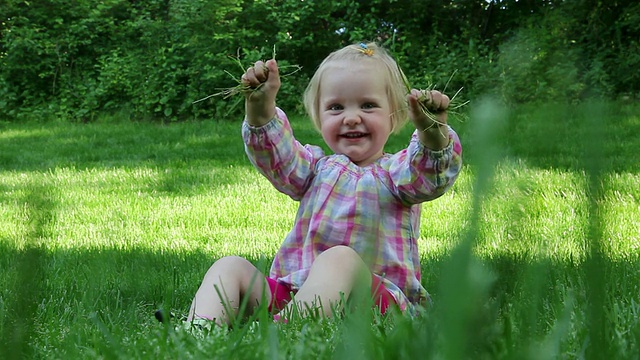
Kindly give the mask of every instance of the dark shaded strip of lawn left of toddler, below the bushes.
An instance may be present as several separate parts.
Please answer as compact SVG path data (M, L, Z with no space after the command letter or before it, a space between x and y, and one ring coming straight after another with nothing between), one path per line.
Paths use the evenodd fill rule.
M0 169L248 165L237 123L27 123L0 126Z

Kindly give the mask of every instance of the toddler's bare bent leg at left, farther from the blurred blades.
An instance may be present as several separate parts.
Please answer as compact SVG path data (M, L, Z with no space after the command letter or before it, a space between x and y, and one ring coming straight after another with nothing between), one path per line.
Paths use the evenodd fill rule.
M204 275L187 320L204 318L219 325L229 324L238 315L238 308L247 296L246 310L249 313L263 299L271 302L271 292L264 275L246 259L224 257L211 265Z

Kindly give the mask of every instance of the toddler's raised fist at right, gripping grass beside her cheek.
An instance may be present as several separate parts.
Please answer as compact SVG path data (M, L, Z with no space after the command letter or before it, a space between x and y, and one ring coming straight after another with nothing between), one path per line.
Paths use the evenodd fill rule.
M409 117L419 132L420 141L429 149L441 150L449 144L447 109L449 97L437 90L412 89L407 95ZM425 114L426 107L429 115Z

